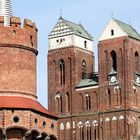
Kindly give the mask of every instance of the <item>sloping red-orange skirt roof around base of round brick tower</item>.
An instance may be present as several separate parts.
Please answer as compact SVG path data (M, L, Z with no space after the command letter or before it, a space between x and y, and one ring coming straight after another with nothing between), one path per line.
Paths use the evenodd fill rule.
M25 97L0 96L0 108L34 110L57 118L54 114L50 113L45 107L43 107L38 101Z

